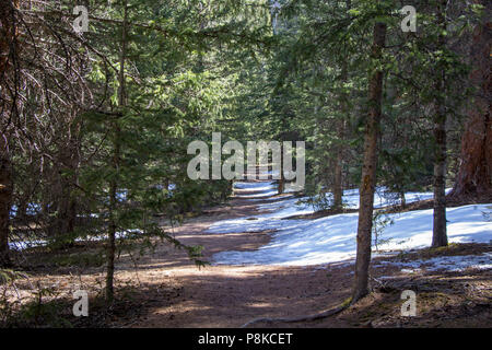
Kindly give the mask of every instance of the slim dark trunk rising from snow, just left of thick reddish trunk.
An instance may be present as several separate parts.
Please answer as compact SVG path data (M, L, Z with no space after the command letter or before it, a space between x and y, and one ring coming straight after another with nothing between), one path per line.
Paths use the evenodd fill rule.
M438 49L445 50L446 37L446 1L441 0L436 7L437 25L441 28L438 36ZM434 112L434 226L432 246L447 246L446 232L446 104L445 104L445 62L440 61L441 69L435 78L435 112Z

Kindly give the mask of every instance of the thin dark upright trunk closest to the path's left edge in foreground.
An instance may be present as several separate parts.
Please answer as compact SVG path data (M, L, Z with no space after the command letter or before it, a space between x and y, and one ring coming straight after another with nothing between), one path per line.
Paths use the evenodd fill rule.
M128 22L128 2L124 2L124 21L121 31L121 50L119 57L119 90L118 103L122 110L126 105L125 91L125 60L127 56L127 22ZM119 172L120 162L120 128L118 120L113 124L114 141L113 141L113 171L115 175ZM112 304L115 298L114 291L114 276L115 276L115 253L116 253L116 207L118 192L118 176L113 176L109 184L109 230L107 242L107 260L106 260L106 302Z

